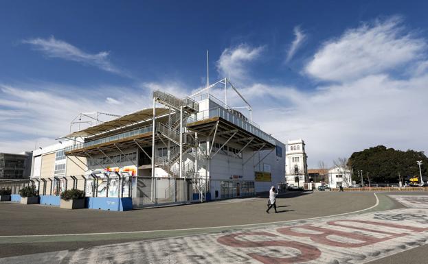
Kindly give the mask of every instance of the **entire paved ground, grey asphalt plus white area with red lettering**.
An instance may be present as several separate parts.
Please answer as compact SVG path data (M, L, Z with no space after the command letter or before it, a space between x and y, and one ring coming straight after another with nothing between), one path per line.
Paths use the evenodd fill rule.
M425 263L427 198L286 193L278 214L265 197L125 213L0 204L0 263Z

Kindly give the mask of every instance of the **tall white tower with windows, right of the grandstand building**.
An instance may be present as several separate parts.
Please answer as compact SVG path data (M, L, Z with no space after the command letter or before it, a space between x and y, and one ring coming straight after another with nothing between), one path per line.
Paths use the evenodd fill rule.
M308 181L308 156L302 139L289 140L286 144L285 179L287 184L303 187Z

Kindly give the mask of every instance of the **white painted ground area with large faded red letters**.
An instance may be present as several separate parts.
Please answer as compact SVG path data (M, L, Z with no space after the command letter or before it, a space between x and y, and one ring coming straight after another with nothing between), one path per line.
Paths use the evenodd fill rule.
M427 242L428 208L401 208L15 256L0 263L367 263Z

